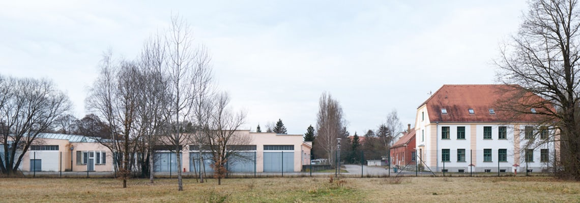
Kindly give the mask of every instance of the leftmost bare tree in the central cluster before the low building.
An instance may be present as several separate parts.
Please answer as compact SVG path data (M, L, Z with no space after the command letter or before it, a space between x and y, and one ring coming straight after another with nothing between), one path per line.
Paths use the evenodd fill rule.
M115 64L112 57L111 52L104 54L99 77L89 90L86 104L108 124L110 136L98 140L114 152L115 170L121 174L125 188L135 160L135 142L140 136L136 111L142 105L139 94L145 82L134 62Z

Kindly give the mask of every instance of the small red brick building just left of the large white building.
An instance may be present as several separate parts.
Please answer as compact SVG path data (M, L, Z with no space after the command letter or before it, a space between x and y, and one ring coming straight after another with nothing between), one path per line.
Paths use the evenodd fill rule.
M408 124L407 132L390 149L393 165L415 165L415 146L415 129L411 129L411 124Z

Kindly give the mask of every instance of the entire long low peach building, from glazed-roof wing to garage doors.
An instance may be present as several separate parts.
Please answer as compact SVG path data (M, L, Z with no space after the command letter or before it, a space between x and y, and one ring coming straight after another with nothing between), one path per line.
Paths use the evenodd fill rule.
M229 172L300 172L310 164L311 142L302 135L268 132L236 131L247 136L248 143L237 147L226 168ZM113 152L96 139L81 135L40 134L23 156L22 171L114 171ZM154 156L154 171L176 172L176 153L158 147ZM182 170L211 173L211 155L193 143L182 146ZM203 164L202 164L203 163ZM200 167L202 165L202 167Z

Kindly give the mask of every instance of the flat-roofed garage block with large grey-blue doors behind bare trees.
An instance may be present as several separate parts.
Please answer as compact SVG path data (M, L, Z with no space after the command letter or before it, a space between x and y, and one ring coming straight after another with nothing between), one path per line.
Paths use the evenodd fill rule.
M302 135L275 134L272 132L236 131L237 136L247 136L248 143L232 145L235 156L227 161L229 172L300 172L302 165L310 164L311 142L303 142ZM212 172L211 154L205 147L183 146L182 170L189 172ZM200 158L201 154L201 158ZM176 172L177 157L169 150L155 153L155 171Z

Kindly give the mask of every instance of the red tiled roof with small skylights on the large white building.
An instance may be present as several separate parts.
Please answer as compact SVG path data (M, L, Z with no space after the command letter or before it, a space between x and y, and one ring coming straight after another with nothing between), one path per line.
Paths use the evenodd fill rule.
M521 101L526 102L543 102L546 100L538 95L524 90L518 85L507 84L480 84L480 85L449 85L445 84L439 88L423 105L427 105L429 120L433 122L526 122L538 121L539 115L514 113L507 110L505 99L513 98L514 95L520 94ZM520 102L521 102L520 101ZM420 106L419 106L420 108ZM525 106L527 112L530 107ZM442 113L441 109L447 110ZM469 112L473 109L473 113ZM490 109L494 113L490 113ZM553 108L551 108L553 109ZM536 109L541 111L541 108ZM525 112L526 109L521 110Z

